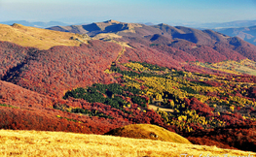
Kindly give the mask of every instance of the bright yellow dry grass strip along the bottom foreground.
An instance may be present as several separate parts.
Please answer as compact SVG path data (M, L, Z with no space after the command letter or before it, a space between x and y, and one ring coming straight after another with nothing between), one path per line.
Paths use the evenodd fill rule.
M0 130L0 156L256 156L215 146L62 132Z

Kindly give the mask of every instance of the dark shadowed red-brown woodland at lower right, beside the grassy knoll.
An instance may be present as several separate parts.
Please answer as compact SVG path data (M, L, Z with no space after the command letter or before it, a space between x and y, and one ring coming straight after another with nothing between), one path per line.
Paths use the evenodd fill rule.
M238 123L225 128L210 130L197 130L197 132L184 135L195 144L216 145L222 148L238 148L255 151L256 123Z

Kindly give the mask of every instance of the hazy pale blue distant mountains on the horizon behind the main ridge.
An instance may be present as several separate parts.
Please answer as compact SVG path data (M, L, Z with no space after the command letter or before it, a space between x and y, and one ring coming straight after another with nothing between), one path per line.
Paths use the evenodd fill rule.
M7 24L7 25L13 25L14 23L19 23L23 26L31 26L31 27L37 27L37 28L49 28L49 29L56 29L56 30L61 30L62 26L68 26L66 27L66 31L70 31L71 29L72 32L81 32L80 33L86 33L87 31L83 31L83 29L87 28L80 28L80 25L72 25L64 22L59 22L59 21L50 21L50 22L42 22L42 21L37 21L37 22L30 22L26 20L10 20L10 21L2 21L0 22L2 24ZM145 24L145 25L156 25L152 22L147 22L147 23L140 23L140 24ZM89 24L83 24L83 25L89 25ZM173 23L172 23L173 25ZM193 28L198 28L201 30L204 29L211 29L213 31L231 36L231 37L239 37L242 40L256 45L255 43L255 25L256 21L255 20L238 20L238 21L231 21L231 22L223 22L223 23L175 23L175 25L183 25L186 27L193 27ZM51 28L55 27L55 28ZM59 28L57 28L59 27ZM71 28L73 27L73 28ZM77 31L75 31L77 29ZM65 30L65 29L64 29Z

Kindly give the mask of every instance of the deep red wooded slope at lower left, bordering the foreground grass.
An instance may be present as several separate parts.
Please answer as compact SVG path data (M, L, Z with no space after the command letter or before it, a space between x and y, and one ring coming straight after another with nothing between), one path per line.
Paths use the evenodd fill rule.
M91 133L89 128L82 128L78 123L31 110L0 107L0 121L1 129Z

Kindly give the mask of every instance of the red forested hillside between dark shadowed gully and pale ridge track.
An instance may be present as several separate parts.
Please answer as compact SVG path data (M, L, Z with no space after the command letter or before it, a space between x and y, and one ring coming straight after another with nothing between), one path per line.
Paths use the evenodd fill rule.
M15 71L7 80L41 94L61 97L65 91L78 86L113 82L103 71L121 50L119 45L100 41L81 47L37 50L19 67L18 75Z

